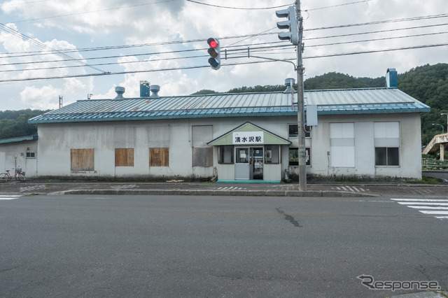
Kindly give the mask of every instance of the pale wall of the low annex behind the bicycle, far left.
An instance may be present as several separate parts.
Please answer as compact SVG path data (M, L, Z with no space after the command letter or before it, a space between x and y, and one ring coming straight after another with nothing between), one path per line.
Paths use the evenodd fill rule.
M27 150L29 148L29 150ZM27 152L34 152L36 158L27 158ZM15 168L15 155L17 155L17 166L22 168L27 178L37 176L37 141L21 141L15 143L0 144L0 172L10 170L11 174Z

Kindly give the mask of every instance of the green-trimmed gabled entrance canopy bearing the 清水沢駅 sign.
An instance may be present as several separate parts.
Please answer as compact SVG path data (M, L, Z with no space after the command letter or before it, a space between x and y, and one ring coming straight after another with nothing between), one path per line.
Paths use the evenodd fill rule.
M235 127L230 132L209 141L209 146L228 146L228 145L290 145L290 141L277 136L272 132L262 129L251 122L245 122L239 127Z

